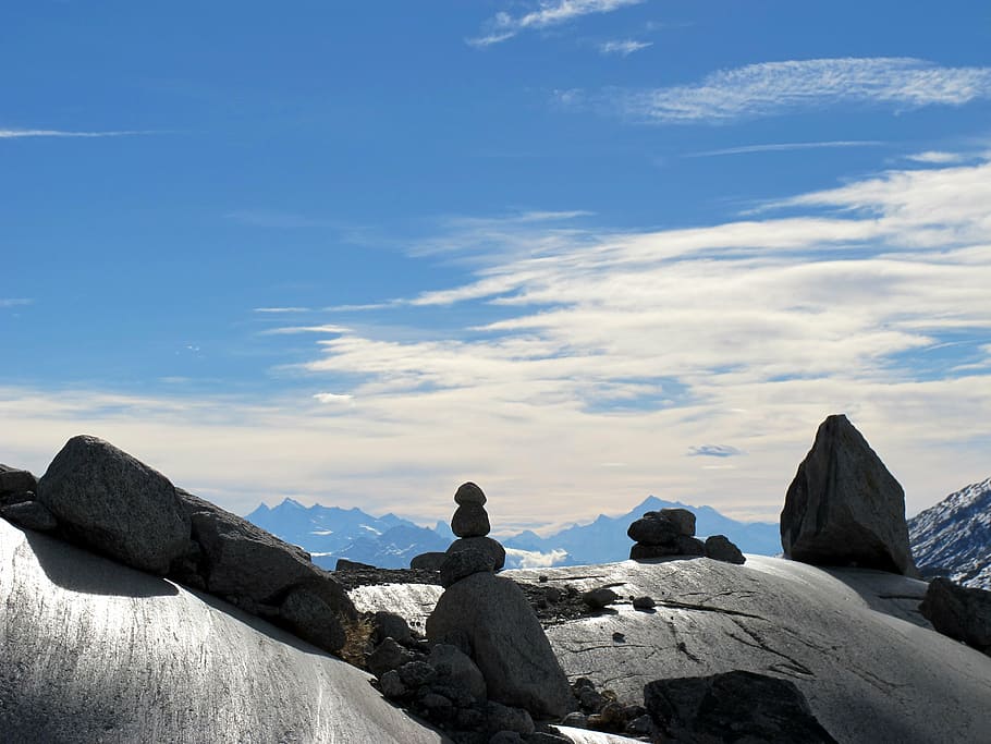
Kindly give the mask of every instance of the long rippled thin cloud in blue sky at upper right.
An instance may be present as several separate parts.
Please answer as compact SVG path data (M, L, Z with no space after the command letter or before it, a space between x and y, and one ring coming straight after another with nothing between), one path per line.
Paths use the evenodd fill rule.
M877 57L761 62L721 70L695 84L610 90L599 95L598 102L609 112L643 123L687 124L840 105L904 110L986 98L991 98L991 68L947 68L920 59Z

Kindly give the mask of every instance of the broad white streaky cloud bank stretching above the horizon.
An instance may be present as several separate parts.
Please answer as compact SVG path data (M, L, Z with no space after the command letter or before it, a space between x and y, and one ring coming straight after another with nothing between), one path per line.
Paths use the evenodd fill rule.
M440 242L482 232L492 255L405 298L451 308L446 330L414 307L399 338L375 316L315 338L314 388L264 404L0 389L0 452L44 471L96 434L242 513L295 493L446 519L475 480L497 530L651 492L773 519L819 422L843 412L914 513L988 476L988 204L984 161L682 230L449 221ZM712 442L746 456L686 456Z

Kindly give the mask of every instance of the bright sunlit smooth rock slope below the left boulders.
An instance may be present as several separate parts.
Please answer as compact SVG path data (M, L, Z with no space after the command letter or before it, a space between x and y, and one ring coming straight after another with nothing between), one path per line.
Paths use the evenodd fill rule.
M225 602L0 521L0 740L445 741Z

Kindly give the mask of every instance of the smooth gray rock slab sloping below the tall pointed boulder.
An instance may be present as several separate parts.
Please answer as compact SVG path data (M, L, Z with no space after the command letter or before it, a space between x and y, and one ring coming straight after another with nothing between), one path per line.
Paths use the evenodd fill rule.
M617 583L624 597L654 598L653 612L617 603L616 614L547 630L570 679L590 678L624 703L653 680L741 669L794 681L840 742L969 742L988 731L991 658L931 629L917 580L762 556L504 575L578 590Z

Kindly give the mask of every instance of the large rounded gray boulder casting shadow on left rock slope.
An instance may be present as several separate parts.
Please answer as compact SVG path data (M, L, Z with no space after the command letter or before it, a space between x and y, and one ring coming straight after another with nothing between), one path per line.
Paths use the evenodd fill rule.
M38 481L66 535L135 569L163 575L189 545L189 519L161 473L102 439L70 439Z

